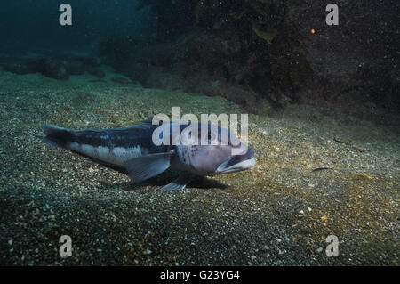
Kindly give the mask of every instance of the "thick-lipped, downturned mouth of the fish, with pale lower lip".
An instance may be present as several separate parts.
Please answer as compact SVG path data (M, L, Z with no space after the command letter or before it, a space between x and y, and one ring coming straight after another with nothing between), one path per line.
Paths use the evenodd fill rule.
M252 166L255 166L256 161L253 158L253 151L251 148L247 150L244 155L235 155L225 160L218 166L217 174L229 174L244 171Z

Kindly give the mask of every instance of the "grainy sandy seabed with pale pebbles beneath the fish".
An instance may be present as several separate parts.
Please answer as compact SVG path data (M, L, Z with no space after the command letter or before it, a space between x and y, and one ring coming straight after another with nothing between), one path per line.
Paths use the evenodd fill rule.
M398 265L398 126L308 105L249 115L257 166L164 192L176 173L133 184L46 145L43 125L130 126L174 106L243 110L220 97L92 79L0 73L0 264ZM62 235L70 257L59 255ZM325 254L329 235L337 257Z

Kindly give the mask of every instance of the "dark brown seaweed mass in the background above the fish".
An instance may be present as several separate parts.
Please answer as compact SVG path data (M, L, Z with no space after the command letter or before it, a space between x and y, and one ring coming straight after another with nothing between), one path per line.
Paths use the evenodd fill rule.
M186 34L189 40L178 45L171 69L183 66L182 74L203 73L213 81L242 85L274 109L301 101L300 91L312 82L307 52L289 17L297 4L283 0L141 0L138 4L145 6L169 32L176 27L171 15L180 24L186 21L202 28L196 37Z

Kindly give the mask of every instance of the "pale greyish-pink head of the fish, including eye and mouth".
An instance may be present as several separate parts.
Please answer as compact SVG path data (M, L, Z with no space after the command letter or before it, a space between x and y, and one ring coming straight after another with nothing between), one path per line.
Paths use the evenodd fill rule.
M207 131L199 131L199 142L188 147L185 159L196 174L229 174L255 165L252 148L240 142L230 130L210 125L200 128Z

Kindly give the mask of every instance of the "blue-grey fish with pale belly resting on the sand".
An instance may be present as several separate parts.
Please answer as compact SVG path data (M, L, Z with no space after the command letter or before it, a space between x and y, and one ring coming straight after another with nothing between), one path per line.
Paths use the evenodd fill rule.
M188 126L196 126L200 134L188 131ZM45 125L44 134L47 144L122 170L133 183L167 169L179 171L175 180L161 188L163 191L183 190L196 176L235 173L256 164L252 148L230 130L211 124L169 121L153 125L148 119L125 128L83 131ZM164 142L155 142L155 134ZM180 142L176 143L176 139Z

